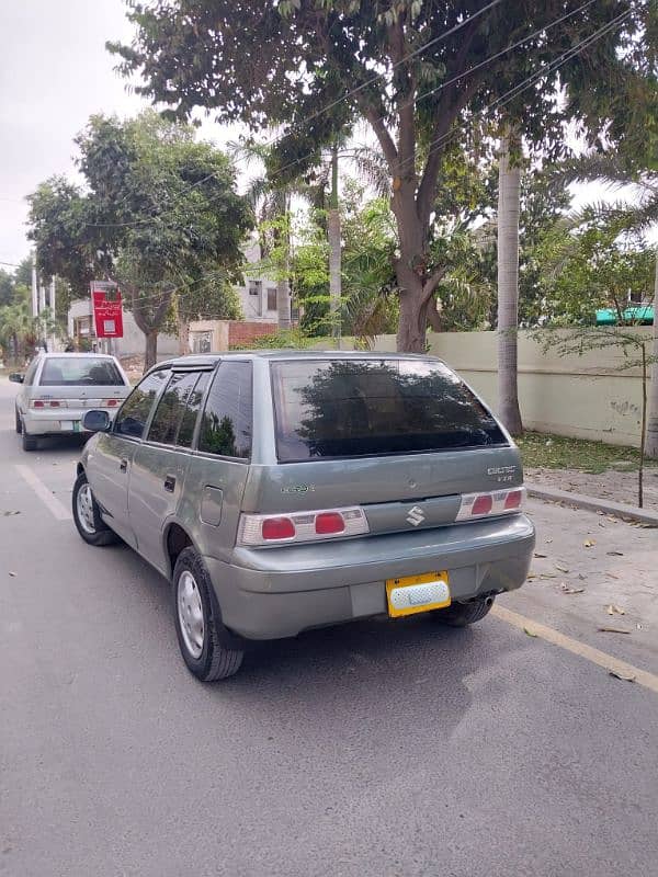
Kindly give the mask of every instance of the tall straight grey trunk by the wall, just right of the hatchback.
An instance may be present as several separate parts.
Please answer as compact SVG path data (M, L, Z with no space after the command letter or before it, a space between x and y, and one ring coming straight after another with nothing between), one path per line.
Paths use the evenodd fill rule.
M498 169L498 413L512 435L523 432L517 384L520 183L521 168L518 161L510 164L506 135Z

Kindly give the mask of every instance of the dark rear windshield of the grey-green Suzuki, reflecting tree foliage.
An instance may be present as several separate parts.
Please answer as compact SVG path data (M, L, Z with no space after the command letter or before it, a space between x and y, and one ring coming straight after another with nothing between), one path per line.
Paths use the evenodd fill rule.
M272 363L282 463L504 445L500 428L442 363Z

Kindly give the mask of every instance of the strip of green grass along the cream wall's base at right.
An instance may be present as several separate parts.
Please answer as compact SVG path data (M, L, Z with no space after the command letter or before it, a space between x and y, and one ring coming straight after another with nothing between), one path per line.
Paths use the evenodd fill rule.
M637 471L639 451L636 447L606 445L585 438L568 438L540 432L525 432L517 441L523 465L534 469L580 469L599 475L606 469ZM645 460L645 466L656 466L656 460Z

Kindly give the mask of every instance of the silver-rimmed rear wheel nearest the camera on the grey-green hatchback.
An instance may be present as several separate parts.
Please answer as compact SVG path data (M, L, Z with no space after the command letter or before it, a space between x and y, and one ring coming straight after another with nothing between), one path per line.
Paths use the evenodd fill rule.
M183 660L202 682L232 676L245 657L242 649L222 643L224 626L212 588L200 554L184 548L173 570L173 617Z

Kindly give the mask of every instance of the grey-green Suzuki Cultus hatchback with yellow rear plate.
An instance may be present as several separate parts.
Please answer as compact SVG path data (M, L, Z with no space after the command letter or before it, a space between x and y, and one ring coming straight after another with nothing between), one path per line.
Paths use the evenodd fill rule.
M172 582L203 681L235 673L250 640L381 615L472 624L525 581L519 451L440 360L185 356L83 425L77 528Z

